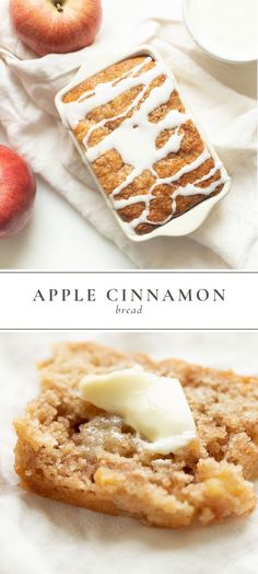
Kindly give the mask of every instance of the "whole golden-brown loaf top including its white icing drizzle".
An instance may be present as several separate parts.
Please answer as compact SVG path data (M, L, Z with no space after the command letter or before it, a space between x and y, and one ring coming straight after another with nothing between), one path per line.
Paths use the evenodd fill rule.
M137 234L219 194L227 181L186 113L173 77L151 57L110 66L62 102L113 208Z

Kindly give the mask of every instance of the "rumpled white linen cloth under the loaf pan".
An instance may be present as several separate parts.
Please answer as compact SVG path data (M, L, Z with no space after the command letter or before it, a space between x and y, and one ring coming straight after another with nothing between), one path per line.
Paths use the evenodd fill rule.
M232 66L202 54L180 21L180 0L103 0L104 22L93 46L38 58L15 36L1 0L0 122L10 144L98 231L142 268L178 266L180 239L133 244L118 227L55 108L54 97L102 51L151 43L174 71L192 111L233 179L232 192L190 237L234 268L257 268L255 67ZM190 266L190 262L189 262Z

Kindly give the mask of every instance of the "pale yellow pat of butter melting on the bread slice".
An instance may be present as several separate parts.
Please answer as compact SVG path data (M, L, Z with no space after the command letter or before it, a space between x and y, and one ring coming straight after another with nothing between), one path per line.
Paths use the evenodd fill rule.
M134 366L80 382L85 401L121 416L151 452L168 455L197 439L195 421L178 379Z

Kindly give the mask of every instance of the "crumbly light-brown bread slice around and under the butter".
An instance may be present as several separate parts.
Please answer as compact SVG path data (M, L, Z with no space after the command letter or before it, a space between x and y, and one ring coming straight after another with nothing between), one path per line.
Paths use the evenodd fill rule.
M85 374L136 363L180 379L198 447L154 456L141 449L120 417L78 395ZM15 470L23 487L165 528L208 525L254 508L248 481L258 475L258 378L176 359L153 361L91 343L56 346L39 369L42 393L15 422Z

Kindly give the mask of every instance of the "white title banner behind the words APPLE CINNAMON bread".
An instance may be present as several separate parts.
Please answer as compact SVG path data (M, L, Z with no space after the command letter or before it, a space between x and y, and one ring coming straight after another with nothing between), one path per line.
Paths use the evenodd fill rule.
M96 302L33 302L38 289L96 289ZM116 314L106 291L117 289L225 289L225 302L146 302L142 314ZM0 329L257 329L258 274L256 273L2 273ZM140 302L119 303L139 308Z

